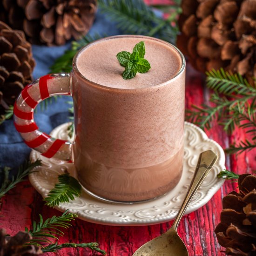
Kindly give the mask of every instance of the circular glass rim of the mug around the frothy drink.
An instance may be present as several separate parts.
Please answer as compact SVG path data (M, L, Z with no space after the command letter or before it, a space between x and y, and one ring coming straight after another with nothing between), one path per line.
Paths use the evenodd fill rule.
M111 40L113 38L121 38L121 37L135 37L135 38L146 38L146 39L150 39L150 40L156 40L156 41L159 41L161 43L164 43L166 45L168 45L168 47L172 47L175 49L175 51L180 55L180 58L182 60L182 65L179 69L179 71L172 77L170 78L169 80L165 81L165 82L162 82L160 84L157 84L157 85L153 85L153 86L149 86L149 87L141 87L141 88L115 88L115 87L109 87L109 86L105 86L105 85L102 85L102 84L98 84L94 81L90 81L88 80L84 75L81 74L81 72L79 71L79 69L77 68L77 58L78 58L78 55L86 48L90 47L91 45L93 44L96 44L98 43L99 41L104 41L104 40ZM122 34L122 35L113 35L113 36L108 36L108 37L103 37L103 38L100 38L98 40L94 40L93 42L90 42L88 43L86 46L82 47L75 55L74 55L74 58L73 58L73 61L72 61L72 66L73 66L73 71L72 72L76 72L83 80L86 80L91 86L95 87L95 88L100 88L100 89L105 89L105 90L111 90L111 91L118 91L118 92L135 92L135 91L146 91L146 90L151 90L151 89L155 89L155 88L160 88L160 87L164 87L165 85L169 84L171 81L175 80L175 78L177 78L180 74L182 74L182 72L184 71L185 67L186 67L186 60L185 60L185 57L184 55L182 54L182 52L173 44L167 42L167 41L164 41L164 40L161 40L161 39L158 39L158 38L155 38L155 37L151 37L151 36L146 36L146 35L131 35L131 34Z

